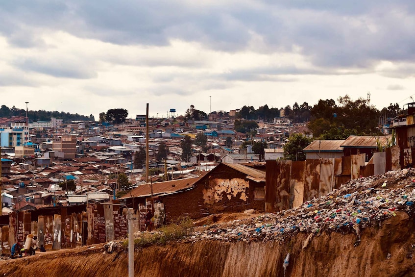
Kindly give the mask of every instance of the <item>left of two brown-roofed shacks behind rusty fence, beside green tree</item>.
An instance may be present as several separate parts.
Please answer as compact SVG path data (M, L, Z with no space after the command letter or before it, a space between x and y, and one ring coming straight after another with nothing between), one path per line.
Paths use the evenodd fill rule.
M303 152L309 159L320 158L341 158L343 156L343 147L341 145L344 140L315 140Z

